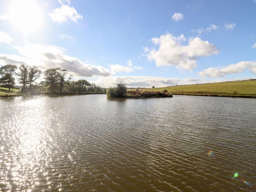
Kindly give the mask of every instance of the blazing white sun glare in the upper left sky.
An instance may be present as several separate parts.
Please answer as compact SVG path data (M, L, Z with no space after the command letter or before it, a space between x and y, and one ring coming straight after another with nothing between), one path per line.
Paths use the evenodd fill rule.
M42 11L36 0L11 1L8 18L16 30L25 34L31 34L38 30L43 22Z

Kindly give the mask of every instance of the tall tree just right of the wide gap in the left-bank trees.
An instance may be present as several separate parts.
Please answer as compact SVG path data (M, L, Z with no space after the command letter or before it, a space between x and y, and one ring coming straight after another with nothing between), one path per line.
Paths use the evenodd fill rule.
M59 78L58 71L60 68L50 68L45 71L45 82L49 86L49 90L54 92L57 89L57 83Z

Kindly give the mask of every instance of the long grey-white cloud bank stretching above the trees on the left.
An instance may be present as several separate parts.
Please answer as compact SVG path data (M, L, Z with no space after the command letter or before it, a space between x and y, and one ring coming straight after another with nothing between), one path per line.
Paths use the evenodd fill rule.
M83 63L76 57L64 54L67 51L53 45L25 44L24 46L14 46L22 55L0 55L1 64L26 64L37 65L42 71L48 68L60 67L76 77L109 76L111 72L101 66Z

